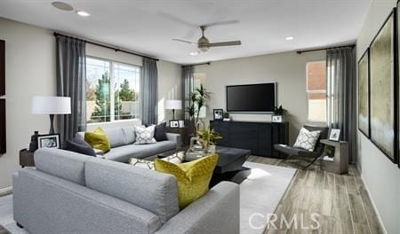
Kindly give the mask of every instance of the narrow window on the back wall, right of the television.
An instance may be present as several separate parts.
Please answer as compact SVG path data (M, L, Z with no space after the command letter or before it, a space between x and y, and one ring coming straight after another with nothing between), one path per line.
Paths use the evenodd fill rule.
M326 122L326 62L307 64L308 121Z

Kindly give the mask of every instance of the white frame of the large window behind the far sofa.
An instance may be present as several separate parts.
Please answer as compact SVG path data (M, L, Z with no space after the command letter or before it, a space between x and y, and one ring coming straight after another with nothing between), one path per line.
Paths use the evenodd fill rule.
M124 65L124 66L134 66L134 67L139 68L139 77L140 77L139 79L140 79L140 85L141 85L141 82L142 82L142 66L134 65L134 64L126 63L126 62L121 62L119 60L113 60L113 59L109 59L109 58L100 58L100 57L96 57L96 56L86 56L85 60L87 58L92 58L92 59L108 62L108 64L109 64L109 67L108 67L108 70L109 70L109 83L110 83L110 94L109 94L109 99L110 99L110 104L109 104L110 112L109 113L110 114L109 114L109 121L90 122L90 123L87 123L87 125L99 125L99 124L107 124L107 123L122 122L122 121L138 121L138 120L140 121L140 119L138 119L138 118L117 120L116 121L116 113L115 113L116 105L115 105L114 101L111 101L111 100L114 100L114 98L115 98L115 90L114 90L114 87L111 84L114 83L114 65L118 64L118 65ZM87 63L86 62L85 62L84 66L87 67ZM86 76L87 76L87 74L86 74ZM87 79L87 77L85 79ZM84 98L84 101L86 102L86 96ZM139 106L140 106L140 109L141 109L141 98L139 98ZM141 116L141 113L139 114L139 116Z

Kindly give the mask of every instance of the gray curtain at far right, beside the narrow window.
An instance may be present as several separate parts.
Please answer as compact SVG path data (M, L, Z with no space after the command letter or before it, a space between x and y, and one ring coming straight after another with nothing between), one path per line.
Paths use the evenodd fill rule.
M328 124L348 141L348 161L356 160L356 50L326 51Z

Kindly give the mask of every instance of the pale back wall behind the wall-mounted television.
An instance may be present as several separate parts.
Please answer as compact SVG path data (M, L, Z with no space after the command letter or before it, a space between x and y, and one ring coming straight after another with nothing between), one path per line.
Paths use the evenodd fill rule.
M212 119L212 109L226 109L227 85L277 82L277 104L288 110L284 118L290 122L290 143L293 144L301 126L308 122L306 64L324 59L325 51L301 55L291 51L196 66L196 73L205 74L204 87L213 93L207 106L208 119ZM270 114L236 113L231 116L234 121L271 121Z

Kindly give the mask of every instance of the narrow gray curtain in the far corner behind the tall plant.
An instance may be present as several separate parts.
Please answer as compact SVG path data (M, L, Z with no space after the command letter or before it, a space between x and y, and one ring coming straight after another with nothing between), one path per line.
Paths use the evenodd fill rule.
M194 68L193 66L183 66L182 67L182 101L183 110L185 113L185 125L189 126L190 120L189 115L186 110L191 105L190 103L190 93L195 89L195 79L194 79Z

